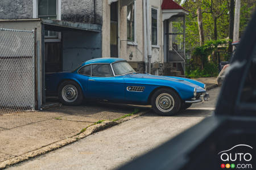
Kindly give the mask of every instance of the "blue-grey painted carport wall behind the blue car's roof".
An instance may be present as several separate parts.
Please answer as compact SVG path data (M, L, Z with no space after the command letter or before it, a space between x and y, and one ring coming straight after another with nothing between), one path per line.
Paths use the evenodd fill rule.
M63 31L63 71L72 71L82 62L101 57L101 33Z

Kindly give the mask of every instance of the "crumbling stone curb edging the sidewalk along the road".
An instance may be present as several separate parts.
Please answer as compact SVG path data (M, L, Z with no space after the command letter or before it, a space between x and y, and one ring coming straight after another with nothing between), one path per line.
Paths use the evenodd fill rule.
M121 124L123 122L129 121L129 120L131 120L135 117L142 116L143 114L146 114L149 111L150 111L150 109L148 109L147 111L139 112L137 114L133 114L129 117L121 118L118 121L104 121L101 124L96 124L96 125L89 126L84 132L82 132L80 134L77 134L73 137L66 138L66 139L63 139L61 141L57 141L55 143L51 143L51 144L49 144L47 146L43 146L43 147L41 147L37 150L27 152L26 154L16 156L15 158L12 158L12 159L9 159L9 160L5 160L4 162L0 163L0 169L10 167L11 165L15 165L15 164L24 162L25 160L35 158L36 156L46 154L50 151L54 151L54 150L56 150L58 148L61 148L63 146L66 146L66 145L69 145L71 143L80 141L80 139L88 137L89 135L97 133L98 131L111 128L115 125L118 125L118 124Z

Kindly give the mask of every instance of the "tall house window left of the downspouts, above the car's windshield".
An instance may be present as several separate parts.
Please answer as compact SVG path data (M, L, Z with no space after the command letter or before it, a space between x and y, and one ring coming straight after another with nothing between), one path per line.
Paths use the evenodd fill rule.
M135 42L135 1L127 6L127 40Z

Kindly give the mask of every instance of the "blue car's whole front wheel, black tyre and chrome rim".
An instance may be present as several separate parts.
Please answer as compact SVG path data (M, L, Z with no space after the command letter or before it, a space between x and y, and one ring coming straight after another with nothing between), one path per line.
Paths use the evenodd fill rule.
M181 101L174 90L160 88L152 95L151 105L156 113L171 116L179 112Z

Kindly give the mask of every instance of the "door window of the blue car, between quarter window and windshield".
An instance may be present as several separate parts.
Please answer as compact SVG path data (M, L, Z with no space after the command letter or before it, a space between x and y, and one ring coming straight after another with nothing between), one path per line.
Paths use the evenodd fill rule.
M92 65L92 76L110 77L113 76L110 64L94 64Z

